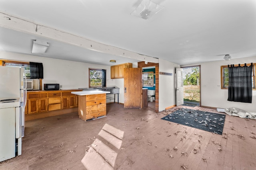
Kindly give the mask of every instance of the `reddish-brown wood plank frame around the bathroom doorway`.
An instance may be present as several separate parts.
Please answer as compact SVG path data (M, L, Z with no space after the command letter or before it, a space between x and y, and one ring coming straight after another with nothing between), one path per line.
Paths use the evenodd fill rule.
M155 112L159 112L159 63L149 63L145 64L144 61L138 62L138 68L155 66L155 76L156 76L156 92L155 92Z

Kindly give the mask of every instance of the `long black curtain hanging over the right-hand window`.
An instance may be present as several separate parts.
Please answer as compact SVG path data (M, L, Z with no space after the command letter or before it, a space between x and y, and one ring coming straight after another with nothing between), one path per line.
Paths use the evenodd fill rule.
M252 103L252 63L228 65L228 101Z

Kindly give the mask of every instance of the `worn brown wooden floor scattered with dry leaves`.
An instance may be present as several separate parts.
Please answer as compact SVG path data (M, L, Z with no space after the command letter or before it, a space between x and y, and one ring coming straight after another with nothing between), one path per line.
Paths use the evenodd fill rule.
M96 138L104 141L98 133L108 123L124 131L121 149L108 143L118 153L114 169L256 170L256 120L226 115L223 135L217 135L161 119L173 110L155 113L154 102L144 109L108 104L106 117L87 122L78 113L26 121L22 155L0 169L85 169L81 160Z

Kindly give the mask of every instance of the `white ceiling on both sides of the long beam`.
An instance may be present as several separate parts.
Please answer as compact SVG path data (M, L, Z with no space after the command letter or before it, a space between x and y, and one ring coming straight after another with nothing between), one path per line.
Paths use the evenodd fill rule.
M152 0L164 8L149 20L130 15L141 1L0 0L0 12L180 65L256 56L256 0ZM1 51L32 55L35 39L50 44L41 57L138 61L0 27Z

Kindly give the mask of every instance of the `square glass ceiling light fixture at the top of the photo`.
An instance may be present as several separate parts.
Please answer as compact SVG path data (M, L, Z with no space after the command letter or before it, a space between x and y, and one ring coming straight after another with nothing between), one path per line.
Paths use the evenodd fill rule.
M144 20L148 20L163 8L163 6L160 6L151 0L142 0L142 2L131 13L131 15L138 16Z

